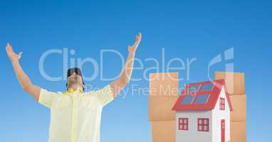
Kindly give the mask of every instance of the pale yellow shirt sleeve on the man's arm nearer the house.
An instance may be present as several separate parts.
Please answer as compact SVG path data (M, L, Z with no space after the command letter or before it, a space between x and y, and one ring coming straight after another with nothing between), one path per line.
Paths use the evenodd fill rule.
M103 89L99 89L97 91L88 92L89 95L93 97L97 97L103 107L113 101L113 91L110 85L103 87Z

